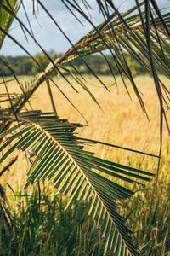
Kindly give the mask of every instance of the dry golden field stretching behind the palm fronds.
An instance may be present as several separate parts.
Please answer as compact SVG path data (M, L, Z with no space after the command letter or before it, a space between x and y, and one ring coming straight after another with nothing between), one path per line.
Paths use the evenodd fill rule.
M31 78L26 77L21 80L26 81L30 79ZM71 99L71 102L75 104L83 116L88 120L88 127L84 127L80 130L80 135L82 137L88 137L122 147L133 148L150 154L159 153L160 109L153 79L149 76L139 76L135 79L140 92L143 94L142 97L150 118L150 123L142 112L142 109L139 106L139 101L134 95L132 85L128 81L127 88L130 91L132 100L127 95L127 91L120 78L117 78L117 89L116 85L111 86L113 83L111 77L101 77L105 84L109 86L110 92L108 92L101 84L99 84L98 80L86 76L86 79L88 80L88 89L93 92L98 100L103 109L102 112L97 104L84 90L82 90L82 88L80 88L79 85L75 84L71 78L68 79L75 85L79 93L75 92L62 78L56 78L55 81L59 85L59 88L65 92ZM163 77L161 79L168 86L167 79ZM13 92L19 91L18 85L14 82L9 82L8 90ZM55 85L52 85L52 90L59 118L85 124L81 115L77 113L69 102L67 102ZM1 91L4 91L4 89L1 88ZM31 106L33 109L42 109L44 112L52 111L47 85L45 83L41 85L35 95L31 98ZM26 107L29 108L29 105L27 104ZM167 118L168 117L169 114L167 112ZM165 125L163 139L163 165L161 166L161 172L167 172L167 148L169 137ZM131 166L142 165L142 168L146 171L156 170L157 160L151 157L102 146L96 146L93 150L99 156L109 160L118 160L123 164ZM26 180L26 170L28 168L25 154L16 154L19 154L19 160L11 168L10 175L8 175L7 172L2 178L3 183L8 182L13 188L16 185L19 187L23 185ZM1 169L2 167L3 166L1 166Z

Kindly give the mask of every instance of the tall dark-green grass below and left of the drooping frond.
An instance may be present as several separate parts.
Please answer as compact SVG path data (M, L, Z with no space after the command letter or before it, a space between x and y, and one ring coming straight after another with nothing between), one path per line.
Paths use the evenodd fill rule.
M32 189L31 189L32 190ZM8 192L9 193L9 192ZM77 203L65 212L67 199L53 195L42 186L40 211L38 193L34 186L31 195L18 192L11 195L12 225L4 232L0 225L0 255L101 255L101 230L87 219L88 207ZM17 210L18 209L18 210Z

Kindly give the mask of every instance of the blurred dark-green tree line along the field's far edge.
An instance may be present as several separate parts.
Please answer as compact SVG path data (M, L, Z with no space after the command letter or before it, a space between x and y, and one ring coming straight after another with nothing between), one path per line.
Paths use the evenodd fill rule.
M50 55L53 60L61 56L54 53L54 51L48 52L48 55ZM41 67L46 68L48 66L48 58L44 54L37 54L34 56L34 58L41 65ZM84 60L96 74L109 75L112 72L117 75L118 70L113 57L111 55L106 55L106 58L110 63L110 67L102 55L88 55L84 57ZM133 75L146 73L146 70L141 67L139 62L135 61L132 56L126 55L126 61ZM8 67L4 67L4 62L14 70L16 75L35 75L42 72L41 68L38 67L35 61L32 61L29 56L0 56L0 76L10 76L12 74ZM77 68L79 73L90 73L88 67L83 65L83 62L80 58L72 61L71 63L74 64L74 67ZM65 67L72 69L71 64L69 63L66 63ZM72 71L74 72L73 69Z

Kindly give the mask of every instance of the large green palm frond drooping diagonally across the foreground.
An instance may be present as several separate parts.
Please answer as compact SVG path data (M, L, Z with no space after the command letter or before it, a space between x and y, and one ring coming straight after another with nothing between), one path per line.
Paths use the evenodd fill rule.
M3 115L3 120L13 121L15 117ZM133 245L131 231L117 212L117 204L133 191L106 178L117 177L127 183L150 181L154 174L103 160L83 148L93 141L77 137L75 130L82 127L54 115L41 112L27 112L18 115L19 123L4 131L6 137L0 151L5 160L16 148L26 150L34 157L28 171L26 187L30 183L48 179L54 183L58 193L70 196L67 206L77 200L88 201L88 215L101 225L105 237L105 253L116 255L138 255ZM8 148L9 144L12 146ZM97 142L95 142L97 143ZM105 143L104 143L105 144Z

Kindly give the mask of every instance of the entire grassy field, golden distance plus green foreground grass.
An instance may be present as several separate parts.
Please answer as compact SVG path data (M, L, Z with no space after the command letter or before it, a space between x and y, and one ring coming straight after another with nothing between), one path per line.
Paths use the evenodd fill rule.
M117 77L118 87L112 85L110 76L100 78L108 85L110 92L102 88L99 82L91 76L85 77L88 81L88 89L96 96L102 106L102 111L77 85L79 93L72 90L60 77L55 79L59 87L70 96L72 101L74 100L75 105L88 119L88 126L80 129L80 136L150 154L159 154L160 110L159 103L156 101L153 79L150 76L135 78L143 94L149 122L131 90L131 84L127 82L132 100L127 95L120 78ZM27 82L31 79L31 77L21 78ZM168 84L166 78L161 77L161 79ZM8 90L17 92L14 82L8 83ZM59 118L84 124L82 117L65 101L54 85L52 85L52 90ZM1 93L3 93L2 87ZM47 84L42 84L31 98L33 109L39 109L40 104L43 112L52 110L48 100ZM30 108L29 105L26 108ZM168 111L167 117L169 117ZM106 160L156 173L157 159L154 157L133 154L118 148L106 148L101 145L92 149L97 156ZM42 201L40 210L38 210L36 186L28 189L28 192L19 192L26 181L26 171L30 164L26 161L24 153L15 152L14 155L18 155L19 158L10 168L10 175L8 172L3 174L1 183L3 187L5 186L8 201L12 205L15 224L12 234L6 233L3 236L3 230L1 230L0 255L14 255L14 253L15 255L102 255L101 232L96 231L92 220L85 218L86 204L75 201L71 210L64 212L67 198L56 195L50 184L45 183L41 184ZM11 159L14 155L10 156ZM133 230L133 241L142 250L142 255L163 256L170 253L169 163L169 136L164 127L158 183L156 179L153 179L151 183L146 183L145 188L140 186L135 188L135 185L130 184L127 188L137 190L137 192L130 200L123 201L119 209L126 219L127 226ZM8 185L5 185L6 183ZM33 197L29 197L32 191ZM71 218L75 220L74 223L70 222ZM56 219L59 221L55 222ZM8 248L10 248L9 251Z

